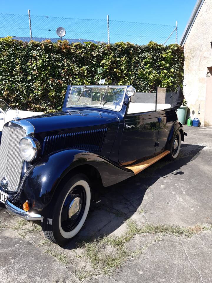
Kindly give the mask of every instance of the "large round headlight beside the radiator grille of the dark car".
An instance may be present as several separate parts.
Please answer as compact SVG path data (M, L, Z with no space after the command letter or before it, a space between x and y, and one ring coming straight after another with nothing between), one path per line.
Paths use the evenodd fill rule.
M30 162L37 157L37 146L32 138L24 137L19 142L19 152L24 160Z

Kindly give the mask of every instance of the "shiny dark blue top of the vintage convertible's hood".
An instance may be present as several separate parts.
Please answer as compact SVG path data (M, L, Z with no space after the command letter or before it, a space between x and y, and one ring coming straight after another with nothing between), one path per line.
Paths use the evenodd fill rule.
M25 119L35 128L35 133L60 131L86 126L104 125L118 122L119 119L112 113L92 110L71 110L59 113L49 113Z

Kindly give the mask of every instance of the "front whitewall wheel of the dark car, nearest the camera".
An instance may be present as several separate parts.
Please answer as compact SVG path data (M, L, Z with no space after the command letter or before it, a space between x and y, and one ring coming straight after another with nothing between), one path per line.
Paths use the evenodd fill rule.
M82 228L90 208L91 189L88 178L77 174L64 181L50 205L43 210L44 235L53 243L64 245ZM59 195L58 195L59 192Z

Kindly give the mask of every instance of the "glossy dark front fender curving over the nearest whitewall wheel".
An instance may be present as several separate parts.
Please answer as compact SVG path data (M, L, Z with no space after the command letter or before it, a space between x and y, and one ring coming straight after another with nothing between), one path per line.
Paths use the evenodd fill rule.
M132 171L122 169L98 154L83 150L63 150L49 154L33 164L24 175L12 201L24 203L29 200L34 209L46 207L63 177L77 166L85 164L98 170L105 187L134 175Z

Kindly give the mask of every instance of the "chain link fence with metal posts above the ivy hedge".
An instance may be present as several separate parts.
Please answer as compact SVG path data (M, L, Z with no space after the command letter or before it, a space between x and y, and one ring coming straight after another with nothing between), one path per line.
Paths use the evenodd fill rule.
M29 37L31 19L32 40L58 38L56 29L64 27L63 39L85 39L97 42L131 42L158 44L177 42L176 25L124 22L108 19L74 19L35 15L0 14L0 37Z

